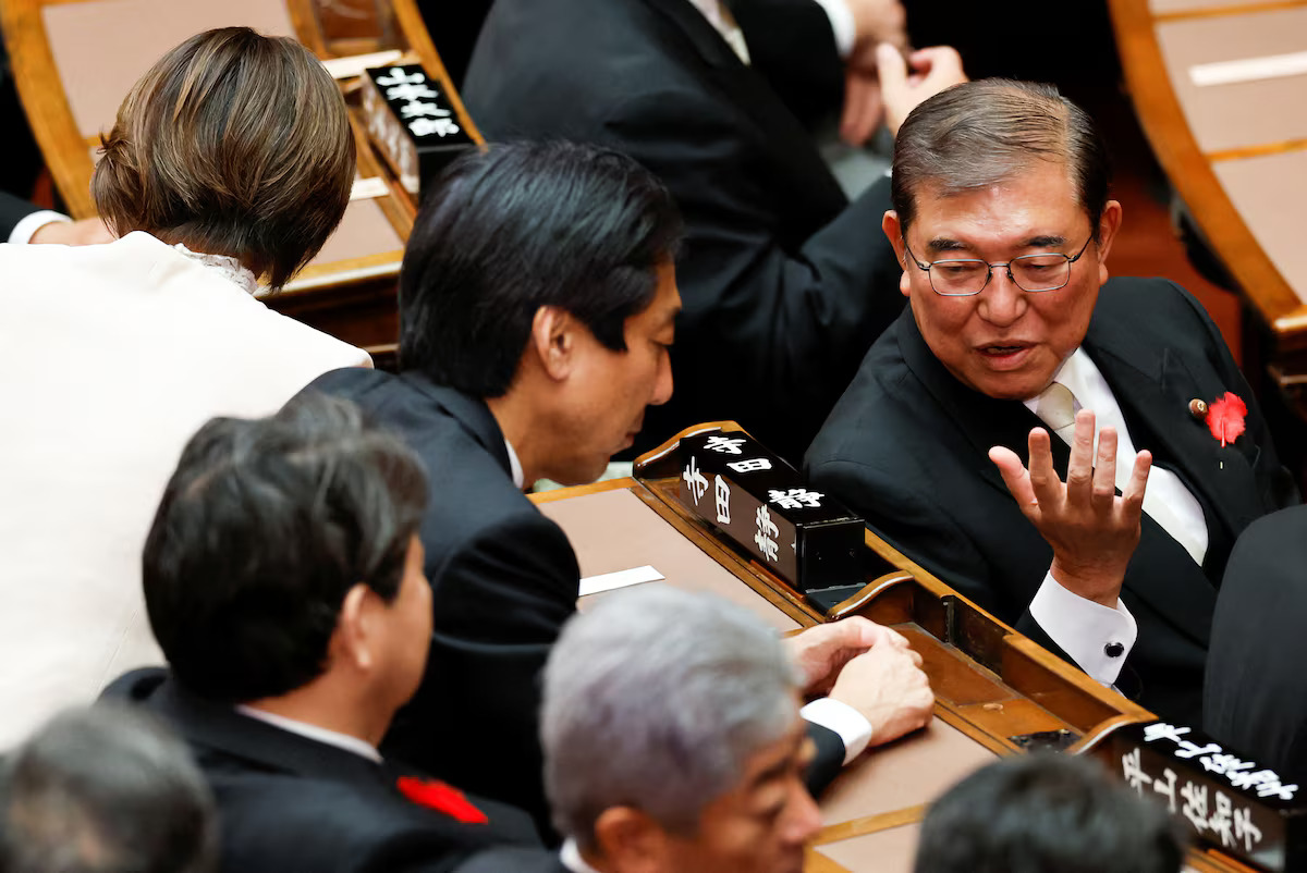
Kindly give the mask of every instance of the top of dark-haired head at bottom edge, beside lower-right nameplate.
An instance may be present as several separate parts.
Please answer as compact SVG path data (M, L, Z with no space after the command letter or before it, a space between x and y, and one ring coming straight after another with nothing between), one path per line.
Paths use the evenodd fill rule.
M914 873L1179 873L1166 806L1091 759L1040 753L982 767L935 801Z

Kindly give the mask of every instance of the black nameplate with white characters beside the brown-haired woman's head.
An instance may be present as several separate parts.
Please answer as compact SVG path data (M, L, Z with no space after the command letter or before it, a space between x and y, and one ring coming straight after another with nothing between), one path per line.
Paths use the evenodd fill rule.
M472 148L454 105L421 64L369 69L361 81L367 133L409 193L417 196Z

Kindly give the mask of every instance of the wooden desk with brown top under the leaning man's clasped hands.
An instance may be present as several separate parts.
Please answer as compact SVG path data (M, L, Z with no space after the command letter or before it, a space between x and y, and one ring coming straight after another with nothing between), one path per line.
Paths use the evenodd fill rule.
M738 430L731 422L702 427ZM1035 646L870 533L867 545L874 554L867 587L829 613L817 612L681 507L674 446L672 440L642 456L640 478L532 495L567 533L582 576L650 565L665 580L648 584L715 593L779 633L867 616L912 642L935 689L936 717L925 731L864 755L822 796L825 827L809 849L809 873L911 873L927 805L966 774L1055 736L1070 753L1097 754L1116 727L1153 720L1142 707ZM621 593L583 597L579 608L593 597ZM1191 865L1213 873L1248 869L1197 851Z

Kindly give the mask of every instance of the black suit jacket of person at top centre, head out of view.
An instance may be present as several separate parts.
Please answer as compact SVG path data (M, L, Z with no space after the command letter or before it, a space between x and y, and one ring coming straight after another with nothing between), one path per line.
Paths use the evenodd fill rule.
M850 204L800 116L839 93L825 13L736 9L753 67L689 0L497 0L463 97L490 139L608 145L680 204L676 392L638 447L731 418L797 461L902 310L901 271L880 233L887 182Z

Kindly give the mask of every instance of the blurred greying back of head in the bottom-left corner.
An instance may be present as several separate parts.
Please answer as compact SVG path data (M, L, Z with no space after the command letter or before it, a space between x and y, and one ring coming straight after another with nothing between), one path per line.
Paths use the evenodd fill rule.
M0 770L5 873L204 873L216 840L204 778L141 712L64 712Z

